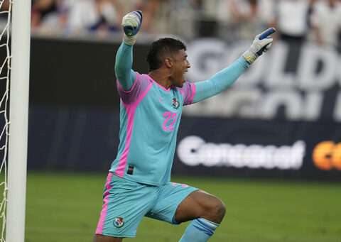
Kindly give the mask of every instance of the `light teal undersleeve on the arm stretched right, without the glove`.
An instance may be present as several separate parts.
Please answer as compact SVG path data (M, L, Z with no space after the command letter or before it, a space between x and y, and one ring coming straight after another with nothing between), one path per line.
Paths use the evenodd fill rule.
M240 57L233 62L232 65L217 72L207 81L195 83L193 103L215 96L224 91L224 89L231 86L238 77L247 70L247 67L249 67L249 63Z

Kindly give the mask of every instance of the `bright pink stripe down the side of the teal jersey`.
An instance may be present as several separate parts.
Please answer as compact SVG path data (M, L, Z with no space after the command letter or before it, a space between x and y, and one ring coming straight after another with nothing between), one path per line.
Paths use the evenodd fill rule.
M126 147L124 148L121 158L119 159L119 165L117 166L115 170L115 175L117 175L118 177L123 177L124 171L126 170L126 161L128 160L129 147L130 147L131 135L133 133L134 116L135 116L136 108L137 106L139 106L142 99L146 97L146 94L149 92L152 86L153 86L153 82L151 82L151 84L148 85L144 93L133 104L122 103L122 105L126 109L126 116L128 117L128 123L126 124Z

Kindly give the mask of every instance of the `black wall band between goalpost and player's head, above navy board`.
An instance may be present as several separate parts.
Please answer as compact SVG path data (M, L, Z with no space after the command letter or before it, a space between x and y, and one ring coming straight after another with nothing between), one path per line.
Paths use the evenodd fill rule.
M32 38L30 104L117 108L114 64L119 45ZM146 46L134 46L134 55L134 70L146 72Z

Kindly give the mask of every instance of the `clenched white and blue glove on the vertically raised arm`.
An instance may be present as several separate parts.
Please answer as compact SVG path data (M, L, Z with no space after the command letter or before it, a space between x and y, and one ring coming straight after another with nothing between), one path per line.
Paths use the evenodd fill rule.
M128 13L122 18L122 28L124 30L123 42L127 45L134 45L137 33L141 28L142 18L140 10Z

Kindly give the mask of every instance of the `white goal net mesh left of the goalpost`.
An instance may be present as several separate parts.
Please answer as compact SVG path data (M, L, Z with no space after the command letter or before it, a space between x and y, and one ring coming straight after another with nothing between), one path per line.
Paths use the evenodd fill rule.
M7 202L7 151L9 142L9 73L11 66L10 28L11 0L0 1L0 222L1 242L5 241L6 202Z

